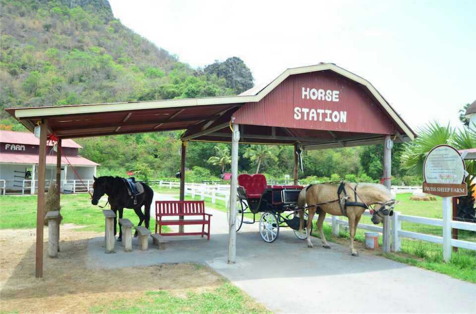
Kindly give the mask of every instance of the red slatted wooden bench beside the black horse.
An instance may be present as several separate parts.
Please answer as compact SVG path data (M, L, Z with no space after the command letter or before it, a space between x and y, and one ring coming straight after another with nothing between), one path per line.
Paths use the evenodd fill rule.
M162 220L163 217L169 216L201 216L199 219L178 219L178 220ZM205 219L208 216L208 219ZM205 213L205 204L203 201L156 201L155 202L155 233L157 233L157 226L159 226L159 234L165 236L172 235L204 235L207 240L210 240L210 218L211 214ZM186 224L201 224L202 232L172 232L162 233L163 225L186 225ZM205 232L205 225L208 225L208 231Z

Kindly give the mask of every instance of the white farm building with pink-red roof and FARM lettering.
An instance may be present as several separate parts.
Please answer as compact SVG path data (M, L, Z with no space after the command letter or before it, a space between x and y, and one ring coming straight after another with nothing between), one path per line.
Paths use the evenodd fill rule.
M61 191L84 190L79 180L90 181L99 164L78 155L82 148L72 139L62 141ZM0 188L2 194L35 194L38 178L40 140L26 132L0 131ZM48 143L46 152L46 189L56 180L57 156L53 143ZM71 169L74 167L74 170ZM87 183L86 183L87 184Z

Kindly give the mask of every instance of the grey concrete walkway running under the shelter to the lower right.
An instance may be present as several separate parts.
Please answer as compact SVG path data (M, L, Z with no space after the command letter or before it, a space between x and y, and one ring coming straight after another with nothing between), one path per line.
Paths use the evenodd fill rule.
M104 238L95 238L88 243L87 265L206 263L274 312L476 313L475 284L365 252L353 257L347 246L331 244L330 250L324 249L317 238L309 249L288 228L280 230L275 242L266 243L257 224L243 225L237 235L237 263L228 265L227 215L207 212L213 214L210 241L170 237L167 250L150 247L141 252L133 239L133 252L124 253L117 243L116 254L104 254Z

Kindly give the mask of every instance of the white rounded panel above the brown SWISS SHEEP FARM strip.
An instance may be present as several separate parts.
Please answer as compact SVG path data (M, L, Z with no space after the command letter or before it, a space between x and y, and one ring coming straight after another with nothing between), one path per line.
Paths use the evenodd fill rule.
M439 145L426 156L423 176L427 183L460 184L465 180L465 162L454 147Z

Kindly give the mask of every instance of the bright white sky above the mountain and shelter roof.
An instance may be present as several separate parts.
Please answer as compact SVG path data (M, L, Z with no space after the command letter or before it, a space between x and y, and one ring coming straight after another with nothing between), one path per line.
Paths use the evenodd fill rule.
M255 85L332 62L417 130L460 127L476 100L476 1L110 0L127 27L192 67L238 56Z

